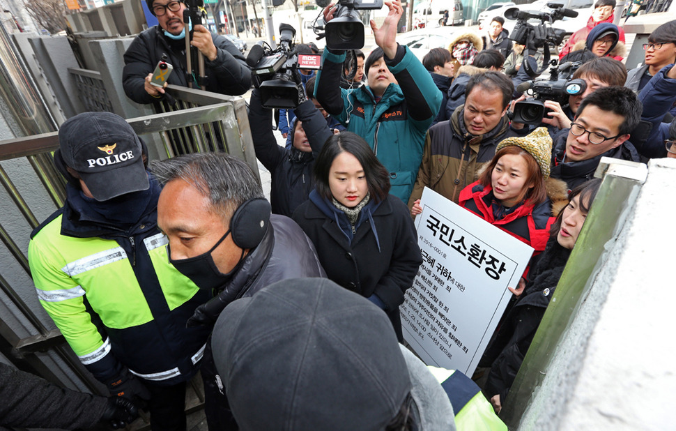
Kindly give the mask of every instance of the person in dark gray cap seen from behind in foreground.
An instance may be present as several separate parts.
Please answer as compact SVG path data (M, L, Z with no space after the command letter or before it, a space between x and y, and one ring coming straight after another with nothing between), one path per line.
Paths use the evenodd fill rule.
M228 305L213 355L240 430L455 430L390 320L328 279L287 279Z

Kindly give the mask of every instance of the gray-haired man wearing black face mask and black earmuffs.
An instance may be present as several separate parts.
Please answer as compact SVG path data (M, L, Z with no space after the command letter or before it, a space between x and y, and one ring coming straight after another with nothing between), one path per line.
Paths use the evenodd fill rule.
M214 297L188 325L212 328L237 298L286 278L325 277L314 246L293 220L270 215L249 166L224 153L196 153L153 162L164 184L158 225L169 239L169 262ZM236 430L207 343L201 369L210 431Z

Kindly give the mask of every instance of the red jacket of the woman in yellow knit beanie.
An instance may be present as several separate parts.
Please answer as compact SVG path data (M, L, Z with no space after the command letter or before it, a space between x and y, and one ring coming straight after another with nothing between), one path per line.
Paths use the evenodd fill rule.
M499 227L514 238L535 248L533 256L544 250L549 239L551 225L555 220L551 216L549 199L537 206L521 205L502 220L493 218L492 200L493 188L491 186L484 187L479 181L476 181L460 192L459 204L491 223L491 225Z

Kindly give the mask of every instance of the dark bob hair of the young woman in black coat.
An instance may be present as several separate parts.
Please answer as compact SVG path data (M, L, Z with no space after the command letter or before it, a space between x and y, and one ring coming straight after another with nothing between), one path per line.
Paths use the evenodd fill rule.
M355 156L364 169L366 183L371 192L371 199L381 202L390 192L390 173L376 158L374 151L362 137L351 132L341 132L326 139L321 153L314 162L315 188L321 197L331 199L329 187L329 173L333 160L342 152Z

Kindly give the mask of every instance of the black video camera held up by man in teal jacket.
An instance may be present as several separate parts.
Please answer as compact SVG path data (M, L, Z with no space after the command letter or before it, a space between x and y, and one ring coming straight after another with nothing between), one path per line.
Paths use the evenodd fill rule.
M321 6L324 2L318 1ZM326 2L328 3L328 2ZM359 10L380 9L383 0L339 0L333 18L323 24L326 46L331 50L358 50L364 47L364 24ZM321 24L316 26L321 29Z

